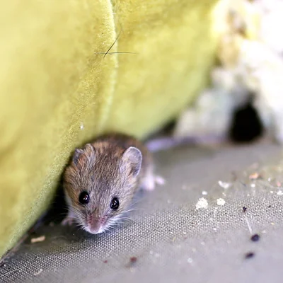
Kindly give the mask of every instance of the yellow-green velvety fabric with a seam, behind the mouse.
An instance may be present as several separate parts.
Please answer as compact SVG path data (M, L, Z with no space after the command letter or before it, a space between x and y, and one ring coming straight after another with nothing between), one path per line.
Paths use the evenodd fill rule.
M50 203L75 146L108 130L146 137L206 85L215 3L1 4L0 256Z

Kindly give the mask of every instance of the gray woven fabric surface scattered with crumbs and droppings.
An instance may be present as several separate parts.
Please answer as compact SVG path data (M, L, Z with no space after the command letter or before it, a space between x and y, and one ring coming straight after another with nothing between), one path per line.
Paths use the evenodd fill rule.
M45 241L28 238L0 267L0 281L282 282L280 156L271 144L160 152L158 173L167 183L138 195L132 221L100 236L41 226L30 238ZM262 178L250 180L255 172ZM207 209L195 208L200 197ZM249 252L254 257L246 259Z

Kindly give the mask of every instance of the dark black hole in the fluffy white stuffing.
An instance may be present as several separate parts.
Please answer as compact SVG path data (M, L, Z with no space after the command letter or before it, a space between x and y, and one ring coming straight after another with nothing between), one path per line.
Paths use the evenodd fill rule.
M250 94L248 102L233 111L229 137L236 143L255 141L264 132L260 116L252 103L253 94Z

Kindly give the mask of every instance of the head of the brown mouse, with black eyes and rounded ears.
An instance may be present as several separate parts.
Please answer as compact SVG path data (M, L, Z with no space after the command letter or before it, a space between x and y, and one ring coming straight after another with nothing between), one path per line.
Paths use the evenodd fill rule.
M141 171L141 151L86 144L76 149L64 173L69 209L90 233L102 233L131 204Z

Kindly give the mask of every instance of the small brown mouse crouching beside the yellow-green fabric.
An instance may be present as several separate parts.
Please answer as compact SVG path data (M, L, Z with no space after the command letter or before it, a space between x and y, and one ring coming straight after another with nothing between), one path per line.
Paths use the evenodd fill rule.
M117 223L137 190L163 184L154 175L151 152L127 134L106 134L76 149L63 175L69 213L89 233L103 233Z

